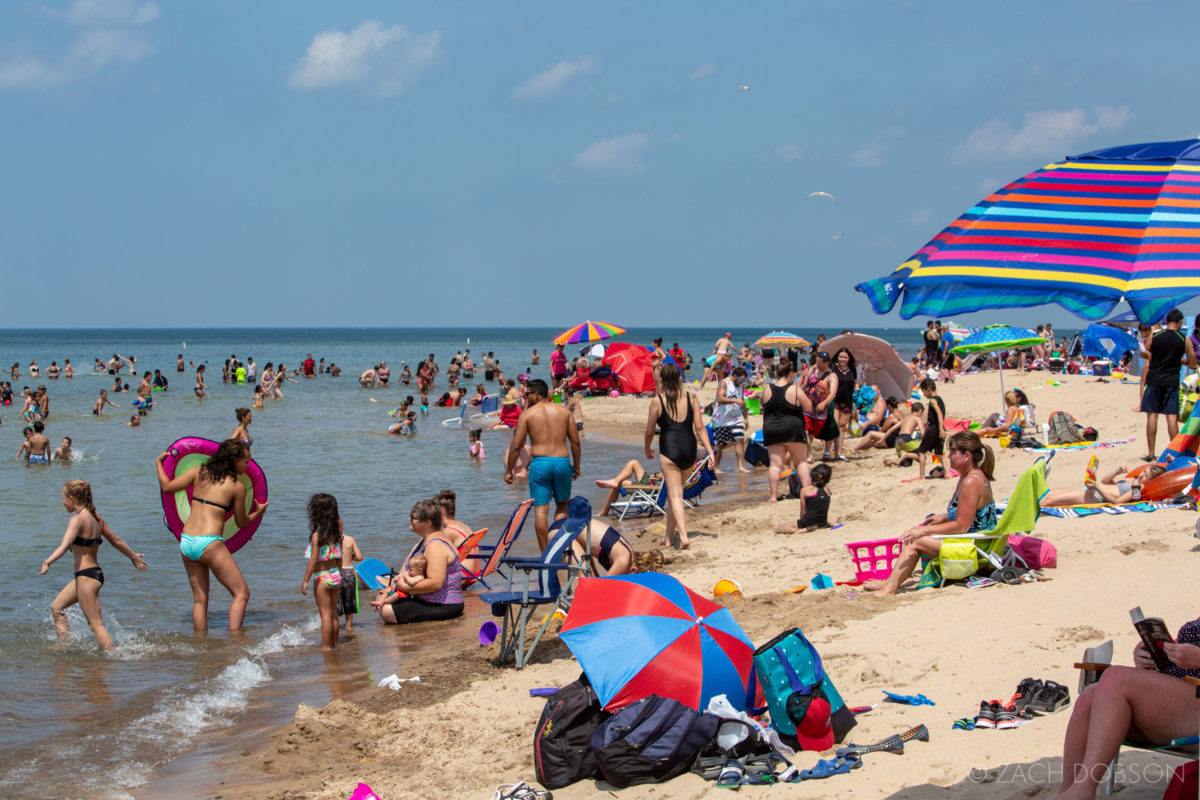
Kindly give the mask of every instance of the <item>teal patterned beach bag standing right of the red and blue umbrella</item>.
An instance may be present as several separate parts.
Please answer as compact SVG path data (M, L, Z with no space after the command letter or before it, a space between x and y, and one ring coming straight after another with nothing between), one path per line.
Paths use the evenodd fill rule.
M755 650L754 667L770 710L770 726L786 736L788 745L796 739L793 716L797 706L806 705L806 700L817 692L829 700L834 741L845 739L854 727L854 715L826 674L821 654L800 628L790 627ZM790 708L792 714L788 714Z

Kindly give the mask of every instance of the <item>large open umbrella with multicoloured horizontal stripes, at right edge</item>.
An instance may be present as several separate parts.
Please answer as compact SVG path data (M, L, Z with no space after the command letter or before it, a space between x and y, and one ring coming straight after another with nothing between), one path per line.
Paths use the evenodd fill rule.
M968 209L892 275L854 287L878 314L1058 303L1145 323L1200 295L1200 139L1097 150Z

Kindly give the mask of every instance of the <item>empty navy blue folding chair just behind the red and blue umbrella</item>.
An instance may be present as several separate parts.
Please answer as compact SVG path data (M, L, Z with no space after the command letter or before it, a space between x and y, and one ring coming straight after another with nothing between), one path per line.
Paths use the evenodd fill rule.
M557 612L566 612L575 597L575 587L580 577L588 573L587 559L580 560L571 545L580 534L587 533L590 552L592 504L586 498L571 499L572 511L580 517L568 517L563 527L551 537L550 545L536 559L504 559L508 569L508 584L504 591L487 591L480 600L492 607L493 616L504 619L500 627L499 662L508 661L515 654L517 669L524 668L533 657L538 643L550 627ZM587 516L582 516L586 509ZM559 573L566 573L565 581L559 581ZM540 606L551 606L538 627L533 642L526 646L526 630L534 612Z

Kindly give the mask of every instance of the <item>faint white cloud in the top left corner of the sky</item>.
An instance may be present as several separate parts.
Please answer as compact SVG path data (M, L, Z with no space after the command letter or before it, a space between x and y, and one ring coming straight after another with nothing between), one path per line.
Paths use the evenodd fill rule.
M138 61L154 52L140 28L158 16L152 2L125 0L77 0L65 11L47 13L80 28L60 58L48 58L24 48L0 58L0 91L41 90L89 78L113 64Z

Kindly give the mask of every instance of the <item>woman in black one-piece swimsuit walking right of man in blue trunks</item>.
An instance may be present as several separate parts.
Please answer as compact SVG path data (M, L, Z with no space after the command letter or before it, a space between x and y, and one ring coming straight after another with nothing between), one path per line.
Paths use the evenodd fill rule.
M673 363L662 365L659 372L659 389L650 401L650 415L646 421L646 457L654 458L654 428L659 434L659 463L662 465L662 477L667 492L667 530L665 545L672 546L672 536L679 530L679 548L686 549L688 525L684 522L683 479L684 471L691 471L696 465L697 441L704 443L708 452L708 468L713 468L713 443L708 440L700 401L695 395L685 392L679 378L679 368Z

